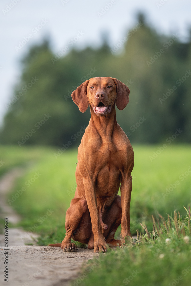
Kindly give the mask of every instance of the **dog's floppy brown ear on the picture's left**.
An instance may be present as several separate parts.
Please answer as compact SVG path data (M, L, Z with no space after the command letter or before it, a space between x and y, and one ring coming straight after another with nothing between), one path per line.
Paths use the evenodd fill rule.
M73 102L75 102L81 112L85 112L89 105L86 91L88 83L89 80L86 80L83 82L83 84L80 84L80 86L78 86L78 88L76 88L76 90L74 90L71 94Z

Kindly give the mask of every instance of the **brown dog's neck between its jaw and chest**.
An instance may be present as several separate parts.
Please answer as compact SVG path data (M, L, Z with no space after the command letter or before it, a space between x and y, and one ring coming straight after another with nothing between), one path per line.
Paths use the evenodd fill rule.
M97 116L91 106L90 112L91 119L89 125L92 125L97 130L104 143L112 142L113 129L117 126L115 106L112 107L111 112L107 116Z

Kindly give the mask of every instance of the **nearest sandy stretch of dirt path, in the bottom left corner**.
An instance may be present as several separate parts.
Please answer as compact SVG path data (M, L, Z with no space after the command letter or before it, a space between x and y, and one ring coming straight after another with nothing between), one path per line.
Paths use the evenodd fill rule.
M76 253L64 253L59 247L10 246L9 284L11 286L63 286L78 278L83 262L94 257L93 250L78 249ZM5 251L2 251L4 253ZM1 261L5 255L2 254ZM3 279L1 265L1 285Z

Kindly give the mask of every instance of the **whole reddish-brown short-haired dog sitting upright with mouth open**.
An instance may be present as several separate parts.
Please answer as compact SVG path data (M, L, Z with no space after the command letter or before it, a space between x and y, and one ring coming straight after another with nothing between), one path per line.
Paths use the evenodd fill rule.
M90 104L91 118L78 148L76 192L66 212L65 252L75 252L75 241L94 252L125 243L131 236L129 207L134 157L133 148L116 121L115 104L123 110L129 88L116 78L86 80L72 93L81 112ZM121 184L121 197L117 195ZM121 240L114 239L121 224Z

